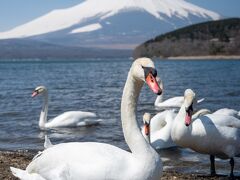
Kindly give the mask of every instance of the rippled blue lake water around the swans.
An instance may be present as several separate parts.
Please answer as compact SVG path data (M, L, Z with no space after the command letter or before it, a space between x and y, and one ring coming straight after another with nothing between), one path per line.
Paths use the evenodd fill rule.
M82 60L2 60L0 61L0 149L41 150L44 135L53 144L69 141L97 141L128 149L120 121L123 86L132 61L129 59ZM155 66L164 82L164 97L183 95L186 88L196 91L205 101L199 108L240 110L240 61L167 61ZM42 97L31 98L36 86L49 92L49 118L68 110L97 113L104 121L99 126L41 131L38 119ZM138 103L139 124L144 112L156 113L156 96L144 87ZM168 168L208 172L208 156L185 149L160 152ZM177 160L176 160L177 159ZM181 167L181 161L196 163ZM221 172L228 173L227 161L217 161ZM200 167L200 168L199 168ZM240 172L236 159L236 172ZM218 170L218 169L217 169Z

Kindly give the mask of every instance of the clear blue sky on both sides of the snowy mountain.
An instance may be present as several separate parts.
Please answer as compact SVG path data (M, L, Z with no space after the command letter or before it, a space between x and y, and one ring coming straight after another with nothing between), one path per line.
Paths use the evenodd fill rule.
M1 0L0 32L29 22L54 9L67 8L83 0ZM169 0L171 1L171 0ZM240 0L186 0L224 17L240 17ZM99 0L101 2L101 0Z

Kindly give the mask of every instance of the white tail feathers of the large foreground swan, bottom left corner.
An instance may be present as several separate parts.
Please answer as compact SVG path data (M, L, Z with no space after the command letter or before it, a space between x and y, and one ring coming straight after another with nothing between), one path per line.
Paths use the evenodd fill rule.
M21 180L46 180L45 178L43 178L42 176L38 175L38 174L29 174L27 171L22 170L22 169L18 169L18 168L14 168L14 167L10 167L10 170L12 171L12 174L21 179Z

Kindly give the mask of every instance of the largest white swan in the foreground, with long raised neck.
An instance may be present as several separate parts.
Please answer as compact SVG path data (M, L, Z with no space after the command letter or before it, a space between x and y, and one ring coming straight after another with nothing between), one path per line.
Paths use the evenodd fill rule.
M94 142L62 143L44 150L25 171L12 168L20 179L141 179L159 180L162 162L147 143L136 120L136 105L144 82L160 94L153 62L140 58L133 62L123 90L121 119L123 134L131 152Z

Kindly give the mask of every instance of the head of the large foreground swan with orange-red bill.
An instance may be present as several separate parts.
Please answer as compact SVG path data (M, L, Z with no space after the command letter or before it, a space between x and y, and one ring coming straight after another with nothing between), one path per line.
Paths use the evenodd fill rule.
M162 89L159 87L159 84L157 82L157 70L155 69L154 63L151 59L136 59L133 62L131 73L135 79L146 82L155 94L162 94Z

